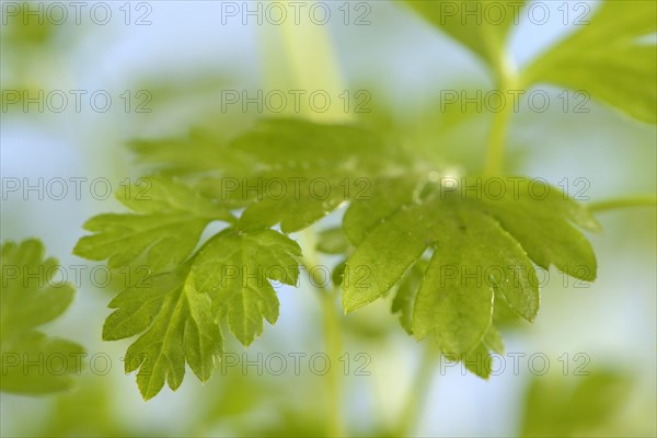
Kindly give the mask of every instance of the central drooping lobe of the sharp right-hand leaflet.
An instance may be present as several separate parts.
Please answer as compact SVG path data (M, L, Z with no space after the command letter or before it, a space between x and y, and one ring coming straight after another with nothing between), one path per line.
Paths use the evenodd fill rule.
M492 218L470 209L445 216L436 222L443 235L435 241L417 292L413 332L419 338L434 334L446 353L463 354L487 333L494 292L532 321L539 307L538 280L520 245ZM493 278L496 275L499 278Z

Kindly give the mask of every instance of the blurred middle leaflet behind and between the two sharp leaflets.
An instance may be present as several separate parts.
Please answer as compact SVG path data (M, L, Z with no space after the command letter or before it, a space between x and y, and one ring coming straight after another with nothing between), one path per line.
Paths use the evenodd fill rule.
M371 178L403 163L368 129L298 119L261 120L229 147L251 155L252 169L242 177L205 178L203 187L220 203L245 207L239 224L245 231L277 223L284 232L304 229L349 199L368 198Z

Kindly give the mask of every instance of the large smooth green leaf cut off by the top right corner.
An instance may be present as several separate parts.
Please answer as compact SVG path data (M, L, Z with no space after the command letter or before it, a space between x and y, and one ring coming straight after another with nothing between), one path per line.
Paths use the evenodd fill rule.
M656 15L654 1L601 2L590 23L528 67L526 88L567 87L639 120L657 123Z

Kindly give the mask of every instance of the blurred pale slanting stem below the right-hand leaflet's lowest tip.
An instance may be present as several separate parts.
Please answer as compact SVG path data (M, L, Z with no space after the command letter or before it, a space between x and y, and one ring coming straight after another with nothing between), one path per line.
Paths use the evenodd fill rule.
M402 405L402 413L392 434L395 437L408 437L413 435L420 418L422 407L426 405L426 397L431 388L431 378L434 377L436 358L439 356L439 353L436 345L430 341L424 344L419 368L415 372L414 380Z

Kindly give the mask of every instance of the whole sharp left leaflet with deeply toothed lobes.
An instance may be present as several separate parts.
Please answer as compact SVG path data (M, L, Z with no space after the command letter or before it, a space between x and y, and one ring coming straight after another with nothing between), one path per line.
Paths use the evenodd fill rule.
M100 215L87 229L76 254L127 266L146 255L152 275L111 302L116 309L103 327L105 341L140 336L128 348L126 371L139 370L145 399L165 383L183 381L185 364L209 379L222 351L220 321L249 345L263 332L263 319L278 319L278 299L269 280L295 285L301 250L276 231L246 227L228 206L189 186L158 176L118 194L132 214ZM194 253L210 221L233 223ZM194 253L194 254L193 254Z

